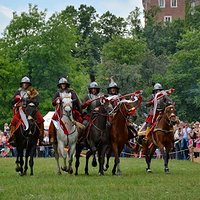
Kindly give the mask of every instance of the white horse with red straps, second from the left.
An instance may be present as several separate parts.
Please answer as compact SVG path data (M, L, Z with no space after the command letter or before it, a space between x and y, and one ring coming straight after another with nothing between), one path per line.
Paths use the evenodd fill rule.
M53 120L56 127L57 144L54 144L55 159L57 161L57 173L61 174L59 155L63 157L64 167L61 169L70 174L73 173L72 162L76 149L76 142L78 139L77 127L74 123L72 115L72 99L71 93L68 93L61 102L61 118L58 121ZM66 134L66 132L68 132ZM68 147L66 151L65 147ZM69 166L67 168L67 157L69 158Z

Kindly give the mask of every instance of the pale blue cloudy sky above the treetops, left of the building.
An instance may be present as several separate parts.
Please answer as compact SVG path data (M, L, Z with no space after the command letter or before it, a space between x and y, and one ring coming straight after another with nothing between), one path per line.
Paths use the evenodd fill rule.
M139 7L142 13L142 0L0 0L0 36L12 19L13 12L19 15L28 11L28 4L37 5L40 11L47 9L47 17L55 12L64 10L73 5L76 9L81 4L93 6L98 14L110 11L118 17L128 17L129 13ZM143 21L143 15L141 15Z

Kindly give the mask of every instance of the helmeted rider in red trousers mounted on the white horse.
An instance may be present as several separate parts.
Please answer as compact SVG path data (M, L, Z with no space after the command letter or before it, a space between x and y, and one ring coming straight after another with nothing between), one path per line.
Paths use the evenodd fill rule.
M53 106L59 106L60 103L62 102L62 99L65 98L65 96L67 96L68 93L71 93L71 98L72 98L72 105L73 105L73 116L75 118L75 120L81 122L81 113L82 113L82 109L81 109L81 103L79 101L78 95L76 94L76 92L70 88L70 83L68 82L68 80L64 77L60 78L58 81L58 90L57 92L54 94L53 97L53 101L52 101L52 105ZM57 112L54 113L52 119L53 120L58 120L57 115L59 115L59 117L61 116L61 110L58 109ZM56 142L56 131L55 131L55 126L53 124L53 121L51 121L50 125L49 125L49 141L51 144Z

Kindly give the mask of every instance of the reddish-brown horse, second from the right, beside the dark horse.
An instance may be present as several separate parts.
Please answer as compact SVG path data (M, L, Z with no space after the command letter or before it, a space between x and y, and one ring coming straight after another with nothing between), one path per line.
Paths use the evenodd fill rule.
M128 128L127 128L127 121L128 116L134 109L134 102L130 100L121 100L118 102L116 107L116 113L112 119L112 125L110 130L110 137L111 137L111 146L112 151L115 155L115 162L112 169L112 174L121 175L120 170L120 154L124 148L124 144L128 142Z

